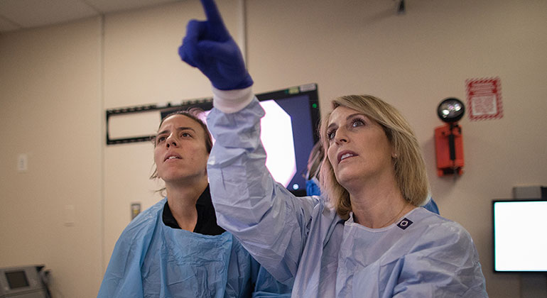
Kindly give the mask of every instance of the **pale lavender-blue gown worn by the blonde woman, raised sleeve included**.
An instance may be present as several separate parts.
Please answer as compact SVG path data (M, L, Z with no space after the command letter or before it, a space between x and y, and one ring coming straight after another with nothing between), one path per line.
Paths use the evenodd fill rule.
M372 229L340 219L320 197L294 197L265 167L258 101L213 109L207 165L220 226L293 297L487 297L479 257L462 226L416 208Z

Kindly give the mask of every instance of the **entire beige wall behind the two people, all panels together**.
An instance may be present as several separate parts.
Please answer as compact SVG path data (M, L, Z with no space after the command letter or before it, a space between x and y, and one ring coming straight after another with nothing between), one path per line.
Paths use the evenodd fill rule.
M441 214L472 234L490 297L519 297L519 275L492 273L490 201L547 184L545 1L248 0L247 61L256 92L316 82L332 96L370 93L397 106L426 156ZM240 1L220 1L237 40ZM177 48L199 1L0 35L0 266L45 263L56 297L94 297L129 205L160 198L148 143L104 144L104 109L210 96ZM104 35L102 32L104 31ZM460 122L465 173L435 174L441 99L497 76L504 117ZM151 121L150 130L157 123ZM28 171L17 172L19 153ZM65 226L65 206L75 223Z

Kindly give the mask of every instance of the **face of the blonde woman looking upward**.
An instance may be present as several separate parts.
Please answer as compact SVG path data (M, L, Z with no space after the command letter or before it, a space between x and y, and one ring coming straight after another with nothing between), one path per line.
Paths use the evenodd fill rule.
M327 126L327 156L345 189L394 177L393 149L384 129L359 111L338 106Z

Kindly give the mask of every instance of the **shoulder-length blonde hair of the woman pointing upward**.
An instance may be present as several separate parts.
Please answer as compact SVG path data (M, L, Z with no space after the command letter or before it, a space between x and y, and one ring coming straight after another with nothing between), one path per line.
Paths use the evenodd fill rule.
M392 158L396 182L404 199L414 206L426 204L429 183L426 163L423 161L418 140L406 119L399 111L385 101L371 95L347 95L332 100L332 110L345 106L373 119L384 128L389 143L394 148L396 158ZM320 138L325 153L330 143L327 126L332 111L321 121ZM321 189L330 199L337 214L347 219L352 211L350 194L338 183L328 158L323 159L320 172Z

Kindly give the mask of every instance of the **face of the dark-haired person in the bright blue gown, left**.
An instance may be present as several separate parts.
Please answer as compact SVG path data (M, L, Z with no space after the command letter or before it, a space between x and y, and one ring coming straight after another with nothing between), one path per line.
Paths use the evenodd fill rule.
M207 177L206 133L192 118L173 115L161 123L156 136L154 162L166 183Z

